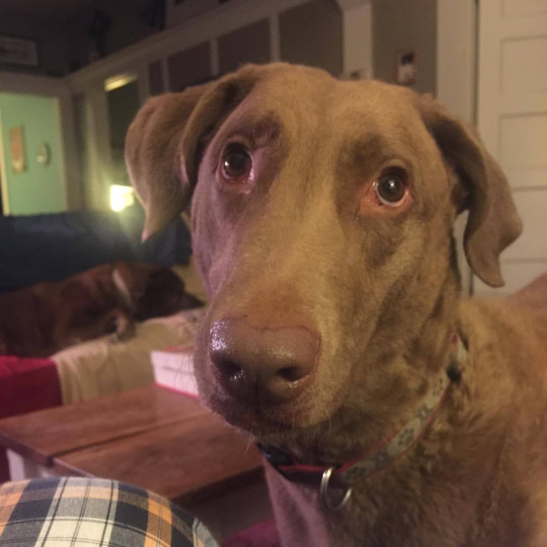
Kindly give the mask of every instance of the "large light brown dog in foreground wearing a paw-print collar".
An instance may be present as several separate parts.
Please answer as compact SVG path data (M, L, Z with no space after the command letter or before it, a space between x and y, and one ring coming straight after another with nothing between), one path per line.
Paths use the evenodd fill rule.
M201 398L272 462L283 545L547 545L547 276L460 298L457 214L491 286L521 231L471 129L408 89L247 66L149 100L126 161L147 234L193 194Z

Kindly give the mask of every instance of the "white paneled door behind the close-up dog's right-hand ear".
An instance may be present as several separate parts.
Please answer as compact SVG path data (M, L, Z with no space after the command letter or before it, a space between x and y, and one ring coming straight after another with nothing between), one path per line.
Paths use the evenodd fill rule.
M504 294L547 272L547 0L479 1L478 126L524 222L502 254Z

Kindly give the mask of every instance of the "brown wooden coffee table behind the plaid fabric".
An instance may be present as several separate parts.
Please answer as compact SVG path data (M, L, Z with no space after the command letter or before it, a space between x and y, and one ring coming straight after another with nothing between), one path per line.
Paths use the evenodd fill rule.
M13 479L130 482L188 508L220 536L271 515L256 447L196 399L160 386L4 418L0 445Z

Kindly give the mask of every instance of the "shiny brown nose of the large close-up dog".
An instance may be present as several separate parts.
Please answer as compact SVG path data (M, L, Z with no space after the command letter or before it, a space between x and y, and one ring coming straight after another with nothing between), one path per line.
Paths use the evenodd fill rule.
M260 328L245 318L222 319L211 329L211 361L234 397L288 403L312 380L319 336L302 326Z

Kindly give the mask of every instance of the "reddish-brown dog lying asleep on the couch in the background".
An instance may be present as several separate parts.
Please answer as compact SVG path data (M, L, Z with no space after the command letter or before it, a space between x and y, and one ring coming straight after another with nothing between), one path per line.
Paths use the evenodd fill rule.
M103 264L63 281L0 294L0 354L48 357L108 333L125 340L135 320L200 305L166 267Z

